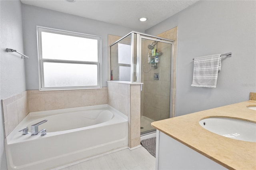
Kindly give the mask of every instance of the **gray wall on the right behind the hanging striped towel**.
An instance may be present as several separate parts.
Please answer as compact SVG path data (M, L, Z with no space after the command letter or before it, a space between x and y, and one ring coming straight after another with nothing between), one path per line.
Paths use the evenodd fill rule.
M178 26L176 116L249 100L256 92L256 1L199 1L146 30ZM217 87L191 87L194 57L232 52Z

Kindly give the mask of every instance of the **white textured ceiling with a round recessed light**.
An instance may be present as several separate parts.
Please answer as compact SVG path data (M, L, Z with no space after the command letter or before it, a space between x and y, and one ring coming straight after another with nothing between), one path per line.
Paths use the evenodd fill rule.
M147 30L198 0L21 0L23 4ZM146 22L139 18L146 17Z

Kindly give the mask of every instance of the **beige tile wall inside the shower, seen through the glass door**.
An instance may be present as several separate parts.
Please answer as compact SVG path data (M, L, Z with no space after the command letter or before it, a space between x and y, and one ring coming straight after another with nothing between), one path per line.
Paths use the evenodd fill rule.
M147 47L152 41L145 41L143 46ZM142 51L143 68L141 72L142 88L142 115L159 121L169 118L170 115L170 78L171 78L171 49L170 45L163 43L157 44L157 49L163 54L159 56L157 68L152 67L147 63L148 52L151 50ZM154 80L154 73L159 74L159 80Z

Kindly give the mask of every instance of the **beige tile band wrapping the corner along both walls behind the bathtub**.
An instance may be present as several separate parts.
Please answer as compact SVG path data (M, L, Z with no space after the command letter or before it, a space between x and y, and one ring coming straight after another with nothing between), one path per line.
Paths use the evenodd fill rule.
M5 136L7 137L29 112L103 105L107 102L107 87L86 90L24 91L2 100Z

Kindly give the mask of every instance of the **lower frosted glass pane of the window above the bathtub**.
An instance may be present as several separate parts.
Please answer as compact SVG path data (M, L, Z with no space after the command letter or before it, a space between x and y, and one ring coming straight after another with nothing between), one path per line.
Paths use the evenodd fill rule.
M44 63L44 86L96 86L97 70L92 64Z

